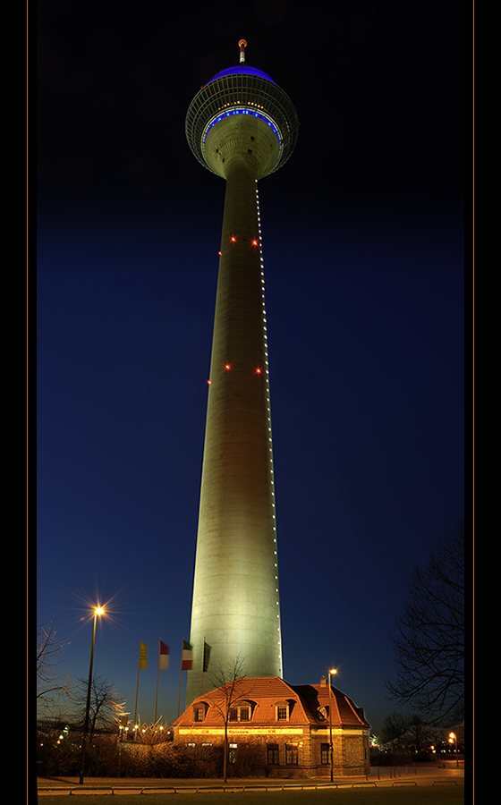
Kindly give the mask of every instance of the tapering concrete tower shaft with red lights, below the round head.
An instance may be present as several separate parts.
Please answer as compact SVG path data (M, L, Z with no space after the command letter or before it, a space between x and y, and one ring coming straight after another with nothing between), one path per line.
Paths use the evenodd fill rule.
M228 165L191 612L187 702L237 658L282 675L267 322L256 165ZM216 685L204 680L204 690Z

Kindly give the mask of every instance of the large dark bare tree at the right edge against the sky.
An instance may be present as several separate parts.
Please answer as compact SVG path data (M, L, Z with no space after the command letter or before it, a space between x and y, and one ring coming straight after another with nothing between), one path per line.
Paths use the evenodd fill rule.
M464 524L438 542L424 569L414 566L410 602L391 637L396 675L390 698L429 721L461 720L464 712Z

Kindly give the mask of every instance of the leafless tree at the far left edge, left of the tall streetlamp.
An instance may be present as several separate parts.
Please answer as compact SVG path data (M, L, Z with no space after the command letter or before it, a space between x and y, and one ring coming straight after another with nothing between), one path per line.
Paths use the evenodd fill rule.
M59 670L59 659L67 643L57 637L55 623L37 623L37 700L45 708L54 706L60 694L70 695L68 677Z

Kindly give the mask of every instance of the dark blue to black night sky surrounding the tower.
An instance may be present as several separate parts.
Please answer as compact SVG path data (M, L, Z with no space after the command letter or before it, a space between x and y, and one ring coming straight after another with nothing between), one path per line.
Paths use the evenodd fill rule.
M177 715L190 635L225 193L184 117L240 38L301 121L259 182L284 678L334 665L372 732L398 709L388 632L464 510L463 14L38 3L37 613L75 681L107 607L94 669L132 716L149 646L141 721L159 639Z

